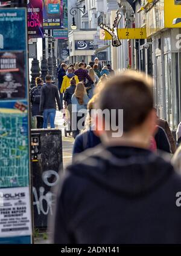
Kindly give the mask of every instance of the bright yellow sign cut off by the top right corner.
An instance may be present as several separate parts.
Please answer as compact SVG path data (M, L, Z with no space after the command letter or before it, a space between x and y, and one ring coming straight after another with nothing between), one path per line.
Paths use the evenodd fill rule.
M181 1L165 0L165 28L181 27Z

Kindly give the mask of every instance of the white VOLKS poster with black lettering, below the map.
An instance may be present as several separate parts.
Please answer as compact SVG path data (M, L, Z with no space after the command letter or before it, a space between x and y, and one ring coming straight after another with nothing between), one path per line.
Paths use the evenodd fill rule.
M0 189L0 237L31 235L29 187Z

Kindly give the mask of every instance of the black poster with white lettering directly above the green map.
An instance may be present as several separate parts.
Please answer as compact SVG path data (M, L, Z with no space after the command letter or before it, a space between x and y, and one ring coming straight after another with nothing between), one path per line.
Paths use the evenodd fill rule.
M0 52L0 99L25 98L24 52Z

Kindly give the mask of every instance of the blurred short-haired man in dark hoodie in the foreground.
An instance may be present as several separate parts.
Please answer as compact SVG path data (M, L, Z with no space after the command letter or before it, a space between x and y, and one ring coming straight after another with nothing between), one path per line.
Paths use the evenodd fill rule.
M180 243L181 178L148 150L156 126L152 86L136 72L104 84L95 109L114 115L94 117L103 145L81 153L66 168L57 194L54 243ZM123 126L122 136L115 123Z

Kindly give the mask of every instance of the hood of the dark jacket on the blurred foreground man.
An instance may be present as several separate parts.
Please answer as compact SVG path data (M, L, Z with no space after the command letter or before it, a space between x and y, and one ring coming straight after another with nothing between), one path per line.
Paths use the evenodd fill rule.
M77 155L68 170L127 197L151 192L174 173L170 163L150 150L103 146Z

